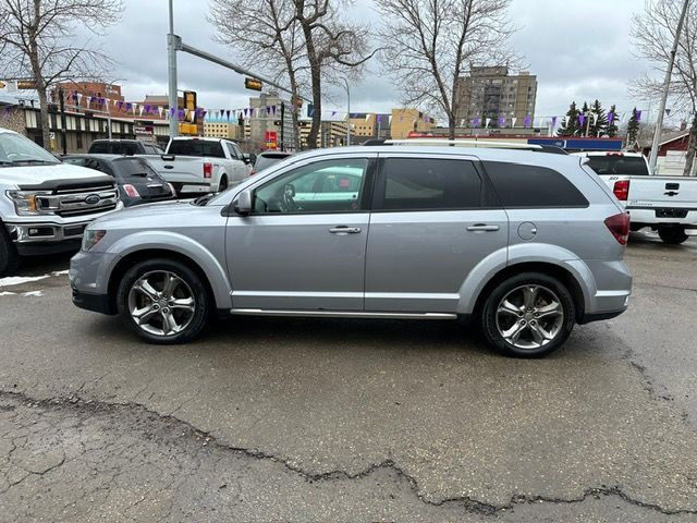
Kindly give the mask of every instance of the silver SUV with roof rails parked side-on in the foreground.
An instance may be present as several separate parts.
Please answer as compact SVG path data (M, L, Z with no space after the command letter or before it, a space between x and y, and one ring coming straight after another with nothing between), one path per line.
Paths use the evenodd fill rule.
M628 216L578 157L378 145L293 156L91 224L73 302L180 343L213 315L477 317L509 355L627 307Z

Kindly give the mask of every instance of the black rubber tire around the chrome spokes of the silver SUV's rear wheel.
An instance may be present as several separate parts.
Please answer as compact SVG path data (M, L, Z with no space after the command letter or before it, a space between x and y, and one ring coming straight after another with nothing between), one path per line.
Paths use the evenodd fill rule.
M560 305L560 309L563 314L563 316L559 320L554 319L554 321L558 323L555 328L547 330L547 332L552 332L553 330L554 336L548 341L545 340L543 344L541 344L540 346L516 346L515 344L512 344L506 339L504 339L499 329L499 323L497 319L499 316L499 305L503 302L504 297L508 297L511 293L515 293L526 285L537 285L542 289L540 291L542 297L538 296L538 300L545 300L545 296L552 297L552 295L547 293L546 291L551 291L553 294L555 294L555 296L553 297L557 297L559 302L554 303L558 303ZM529 324L536 324L539 326L542 326L541 321L551 321L551 319L535 319L535 317L533 316L534 314L535 313L526 314L525 312L521 312L522 316L519 318L512 315L513 317L511 320L522 324L525 324L525 320L527 320L527 323ZM527 317L528 315L530 317ZM502 317L505 316L506 314L502 314ZM557 317L558 316L555 316L555 318ZM576 308L574 306L574 299L564 283L562 283L557 278L543 275L541 272L523 272L521 275L516 275L505 279L491 291L489 297L487 297L487 301L485 302L481 312L481 330L487 342L492 348L506 356L540 357L555 351L566 341L574 328ZM529 331L530 327L531 326L528 325L528 327L524 328L524 330L526 332L526 336L529 335L531 337L533 333L531 331ZM523 335L521 335L521 338L523 338ZM523 343L523 341L521 341L521 343ZM534 340L530 341L530 343L534 342Z

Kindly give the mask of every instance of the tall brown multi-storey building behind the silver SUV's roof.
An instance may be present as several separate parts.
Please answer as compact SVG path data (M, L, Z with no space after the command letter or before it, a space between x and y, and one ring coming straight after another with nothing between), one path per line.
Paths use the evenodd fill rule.
M489 127L525 126L535 118L537 76L527 71L509 74L505 66L473 66L469 75L457 80L458 110L455 118L461 126ZM473 121L478 120L479 125Z

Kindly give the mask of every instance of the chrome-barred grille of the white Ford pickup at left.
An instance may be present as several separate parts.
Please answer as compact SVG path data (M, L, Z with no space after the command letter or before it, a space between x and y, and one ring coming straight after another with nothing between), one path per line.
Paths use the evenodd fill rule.
M50 195L37 197L42 214L61 217L87 216L107 212L117 208L119 190L113 183L66 185L53 190Z

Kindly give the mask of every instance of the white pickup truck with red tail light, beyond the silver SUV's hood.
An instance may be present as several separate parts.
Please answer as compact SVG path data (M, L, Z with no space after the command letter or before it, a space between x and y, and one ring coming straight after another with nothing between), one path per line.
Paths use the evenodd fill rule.
M176 137L163 155L142 155L178 194L224 191L249 175L247 157L229 139Z

